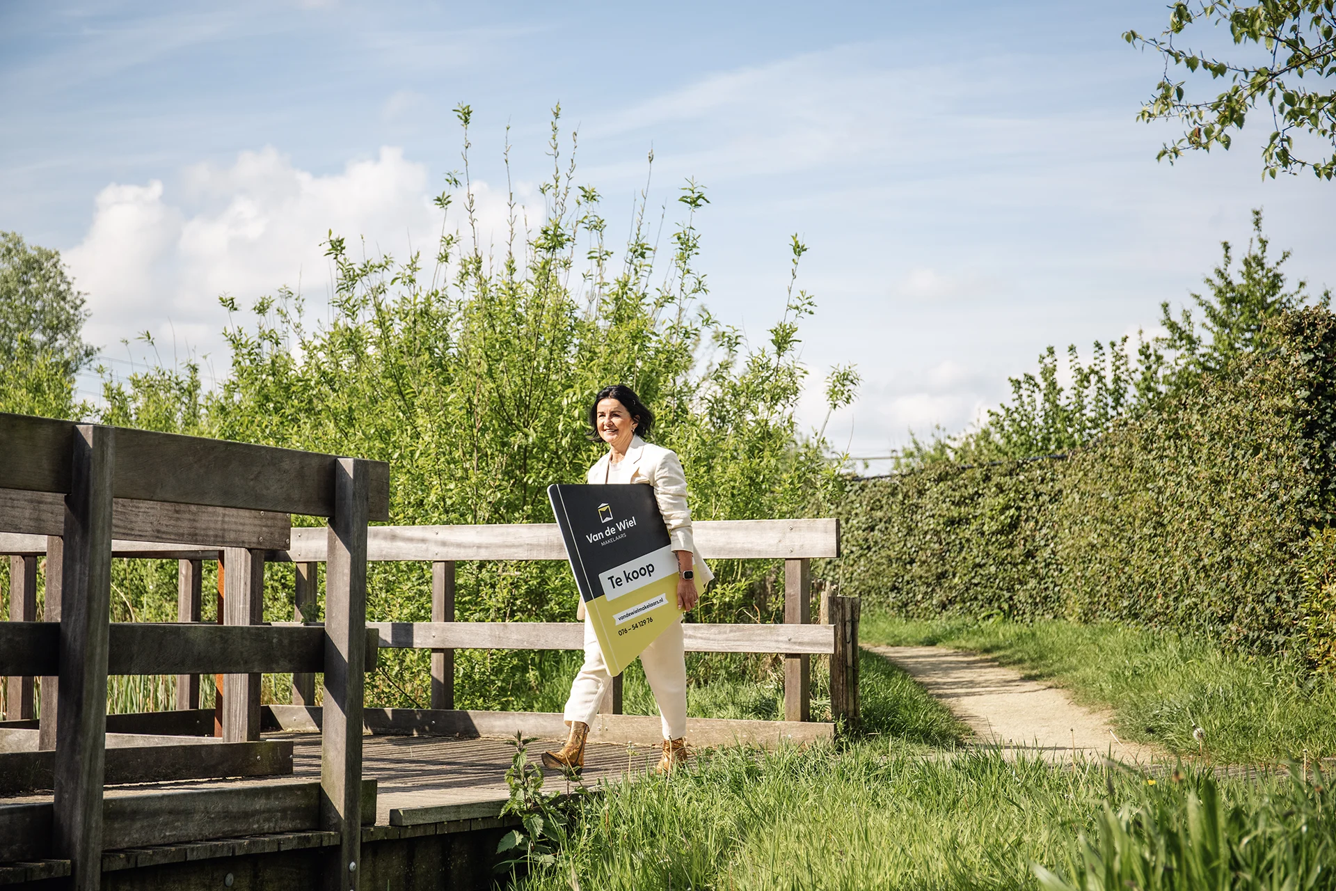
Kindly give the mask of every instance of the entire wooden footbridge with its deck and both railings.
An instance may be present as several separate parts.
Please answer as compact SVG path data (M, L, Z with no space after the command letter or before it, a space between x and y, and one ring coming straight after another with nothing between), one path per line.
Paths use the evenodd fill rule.
M458 622L454 566L565 560L556 526L369 526L389 466L286 449L0 414L0 884L73 888L490 887L509 747L560 737L558 713L456 711L453 651L580 649L578 622ZM290 514L326 518L291 528ZM707 558L783 558L784 624L685 627L697 652L786 655L784 721L689 719L695 744L804 743L811 656L831 659L836 717L858 720L858 601L811 624L810 560L834 520L697 522ZM43 621L37 560L45 556ZM110 621L114 557L176 560L179 621ZM219 564L219 624L200 622ZM367 622L367 561L428 561L430 622ZM263 622L267 562L295 564L294 621ZM317 564L325 622L311 621ZM379 648L430 649L432 708L374 709ZM289 705L262 673L293 673ZM315 677L323 675L322 705ZM107 715L110 675L175 675L176 711ZM215 709L199 708L216 676ZM35 689L40 689L36 716ZM620 679L587 776L641 769L657 717L621 715Z

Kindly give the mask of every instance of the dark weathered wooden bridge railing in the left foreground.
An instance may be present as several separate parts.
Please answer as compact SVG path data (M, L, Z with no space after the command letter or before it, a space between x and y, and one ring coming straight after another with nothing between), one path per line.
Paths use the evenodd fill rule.
M20 709L31 708L23 679L41 676L43 704L35 737L5 731L8 747L27 751L0 755L0 775L13 781L27 773L55 792L51 803L0 804L0 862L67 859L69 884L94 890L104 847L216 838L219 826L236 824L246 832L337 831L329 866L346 875L341 864L361 862L367 792L362 688L375 641L365 629L366 525L386 518L389 466L11 414L0 414L0 532L24 536L9 548L23 621L0 624L0 675L19 679ZM265 550L287 546L290 513L329 520L326 624L250 627L259 618ZM226 545L223 627L108 621L114 538L163 537L207 542L215 557ZM32 621L39 542L47 554L41 622ZM170 779L172 764L192 776L234 776L248 772L238 761L258 752L262 765L279 771L286 756L290 772L291 748L261 743L250 711L259 673L277 671L325 675L319 783L136 795L104 810L106 781ZM127 741L107 735L114 673L222 673L223 741L140 737L108 756L108 745ZM183 745L192 749L186 757ZM374 804L369 815L374 820Z

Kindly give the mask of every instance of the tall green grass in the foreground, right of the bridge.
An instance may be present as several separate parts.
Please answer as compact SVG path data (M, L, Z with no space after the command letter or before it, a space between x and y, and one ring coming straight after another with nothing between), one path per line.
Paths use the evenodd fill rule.
M1327 793L1297 775L1180 777L1181 783L1148 785L1140 773L1102 764L1054 768L1041 760L1009 761L990 751L950 760L892 757L875 743L772 753L716 749L668 780L608 785L587 806L574 842L557 863L517 887L1034 888L1035 866L1078 875L1081 867L1073 863L1082 863L1079 839L1098 844L1106 807L1116 815L1160 808L1157 828L1124 844L1125 859L1173 867L1176 855L1164 842L1181 836L1184 858L1241 851L1255 839L1256 851L1249 852L1255 863L1332 862ZM1188 828L1196 819L1189 818L1192 801L1208 791L1216 795L1214 814L1225 815L1209 843L1213 848ZM1300 819L1284 823L1287 814ZM1268 830L1259 834L1260 824ZM1292 887L1332 887L1329 875L1319 878L1313 886Z

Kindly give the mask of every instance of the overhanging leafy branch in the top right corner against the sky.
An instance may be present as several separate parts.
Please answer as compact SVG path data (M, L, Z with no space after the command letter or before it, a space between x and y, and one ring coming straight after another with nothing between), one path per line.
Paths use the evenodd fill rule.
M1192 25L1229 25L1238 55L1218 59L1180 45ZM1261 107L1271 110L1272 134L1263 147L1263 175L1312 170L1321 179L1336 175L1336 90L1325 80L1336 75L1336 0L1197 0L1169 7L1169 27L1158 37L1128 31L1124 39L1149 47L1165 60L1165 72L1141 120L1182 122L1184 135L1165 143L1157 158L1170 163L1186 151L1228 150L1230 131ZM1214 99L1197 102L1186 95L1186 80L1176 69L1209 73L1229 85ZM1308 134L1313 155L1296 154L1295 134ZM1331 151L1331 155L1327 152Z

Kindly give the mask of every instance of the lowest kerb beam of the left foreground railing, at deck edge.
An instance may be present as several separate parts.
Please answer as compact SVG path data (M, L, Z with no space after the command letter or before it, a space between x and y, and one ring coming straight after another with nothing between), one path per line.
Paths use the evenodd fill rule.
M363 780L361 792L361 812L374 820L375 780ZM321 784L314 780L114 792L98 808L107 848L301 832L319 828L319 814ZM52 850L51 803L0 804L0 863L49 858Z

